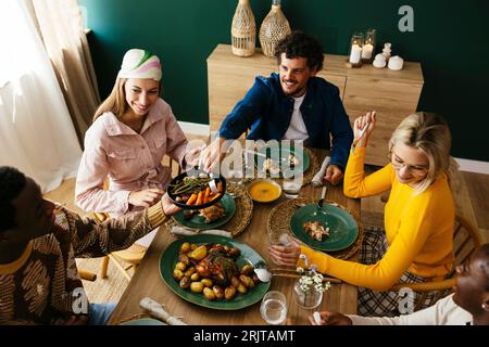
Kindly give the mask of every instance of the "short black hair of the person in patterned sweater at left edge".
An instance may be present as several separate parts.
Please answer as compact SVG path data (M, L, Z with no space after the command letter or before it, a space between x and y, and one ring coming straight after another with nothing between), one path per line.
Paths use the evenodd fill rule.
M15 227L12 201L26 185L25 175L10 166L0 167L0 232Z

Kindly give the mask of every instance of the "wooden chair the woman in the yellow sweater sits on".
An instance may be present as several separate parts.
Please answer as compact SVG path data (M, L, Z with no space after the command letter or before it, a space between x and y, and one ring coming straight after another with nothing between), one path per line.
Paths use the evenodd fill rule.
M455 284L455 268L456 266L465 262L472 256L474 250L480 246L480 235L477 229L472 226L464 217L455 216L455 228L453 232L453 253L455 259L453 262L452 271L443 279L439 281L423 282L423 283L398 283L390 291L398 292L401 288L411 288L417 292L421 296L414 307L417 311L429 292L438 292L432 299L431 304L435 304L440 298L451 293L452 286Z

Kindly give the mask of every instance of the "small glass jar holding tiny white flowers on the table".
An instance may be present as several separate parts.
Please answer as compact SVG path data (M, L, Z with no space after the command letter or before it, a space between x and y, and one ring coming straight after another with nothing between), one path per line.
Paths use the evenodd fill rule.
M293 285L293 300L304 309L313 309L323 301L323 293L331 286L330 282L323 281L323 274L316 272L316 266L309 267L309 259L301 254L300 258L304 260L308 269L297 268L301 278Z

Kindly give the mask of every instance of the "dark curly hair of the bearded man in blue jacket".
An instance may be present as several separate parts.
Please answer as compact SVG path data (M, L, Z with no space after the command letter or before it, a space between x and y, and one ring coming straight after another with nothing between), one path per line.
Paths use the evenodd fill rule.
M281 53L286 53L287 59L305 57L309 68L317 68L316 72L323 69L324 54L321 43L314 37L300 30L292 31L278 42L275 48L278 64L281 61Z

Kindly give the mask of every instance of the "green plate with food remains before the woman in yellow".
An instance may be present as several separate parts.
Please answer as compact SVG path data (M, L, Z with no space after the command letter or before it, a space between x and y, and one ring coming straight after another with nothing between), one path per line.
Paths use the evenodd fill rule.
M326 214L316 213L316 205L305 205L296 210L290 218L292 234L308 246L323 252L336 252L350 247L359 236L359 226L347 210L335 205L324 204ZM315 214L316 213L316 214ZM308 221L319 221L329 228L329 236L317 241L311 237L302 227Z

